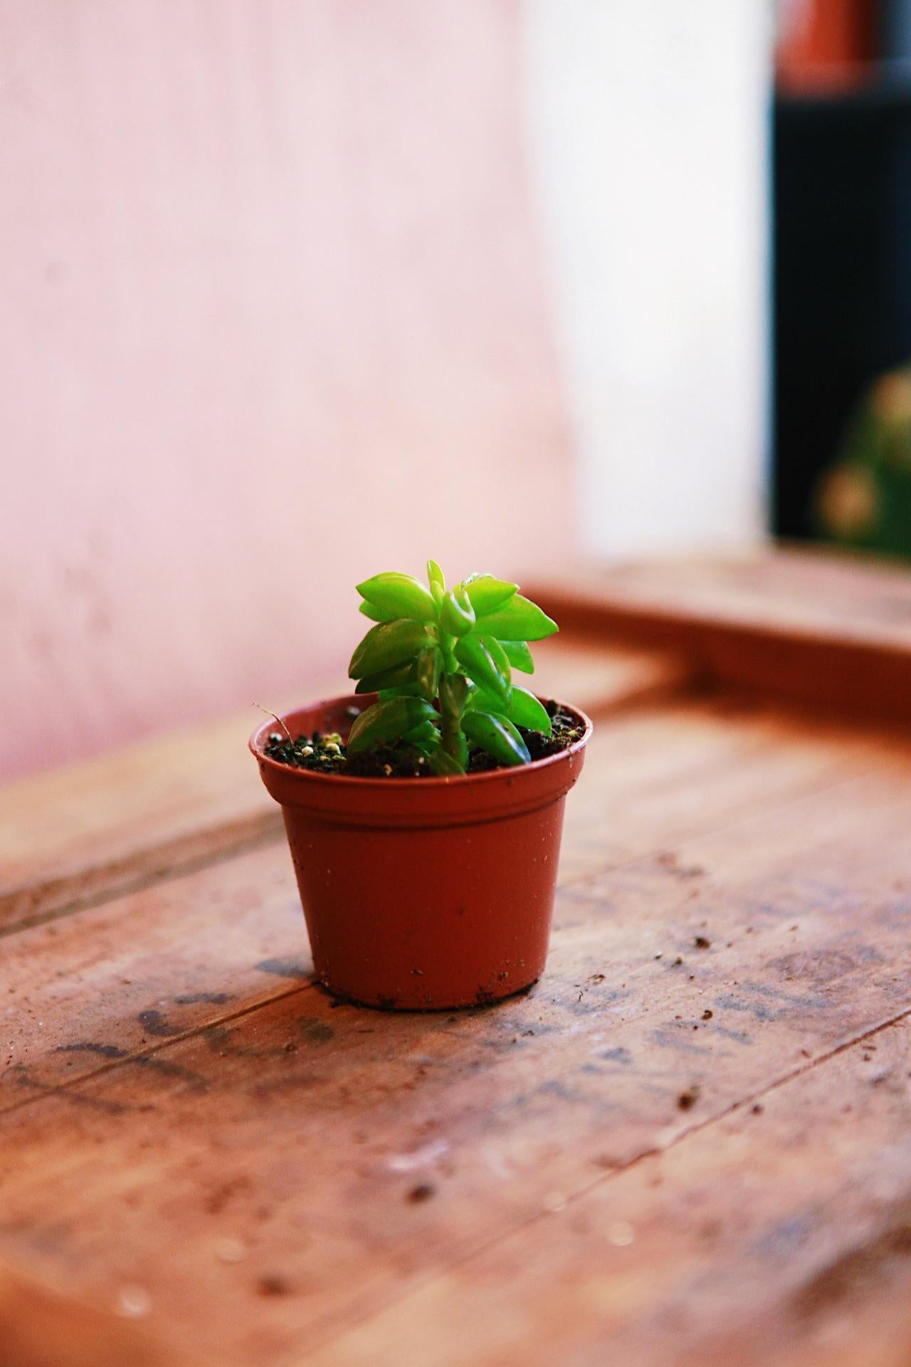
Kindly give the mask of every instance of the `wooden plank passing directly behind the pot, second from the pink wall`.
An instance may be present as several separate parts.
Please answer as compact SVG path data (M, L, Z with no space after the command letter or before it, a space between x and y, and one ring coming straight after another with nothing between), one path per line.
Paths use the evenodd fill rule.
M825 727L794 738L774 715L728 716L713 704L602 723L571 798L560 886L649 854L667 883L675 839L731 826L758 802L825 791L874 764L877 744ZM561 899L557 925L578 921L593 895L597 880ZM284 842L20 930L0 972L0 1110L137 1053L137 1066L165 1066L163 1040L280 995L310 971Z

